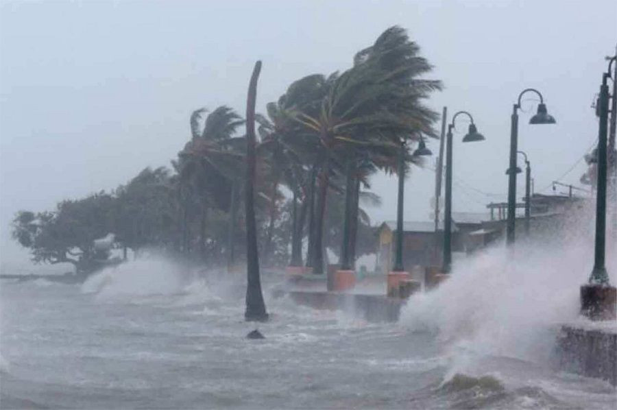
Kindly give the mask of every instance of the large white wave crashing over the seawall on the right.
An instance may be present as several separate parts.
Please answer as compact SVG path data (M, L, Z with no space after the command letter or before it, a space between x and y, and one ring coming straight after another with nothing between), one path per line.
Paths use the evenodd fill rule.
M468 258L438 289L413 296L400 323L437 333L455 352L546 363L559 326L579 319L579 287L591 270L590 245L565 249L517 243L516 255L500 247Z

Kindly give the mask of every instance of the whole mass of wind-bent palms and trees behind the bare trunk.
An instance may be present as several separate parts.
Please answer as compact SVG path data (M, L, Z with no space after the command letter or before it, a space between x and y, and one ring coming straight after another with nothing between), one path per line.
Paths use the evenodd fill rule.
M396 172L402 141L411 152L422 134L435 134L437 113L425 101L441 83L422 78L431 69L405 30L390 27L356 53L350 68L302 77L269 102L265 114L255 114L254 209L262 263L286 265L290 243L302 250L307 238L317 259L322 245L339 254L346 237L352 258L374 251L370 220L359 203L378 202L367 191L370 176ZM163 248L223 265L232 263L233 247L243 258L246 215L241 203L232 212L231 198L232 186L237 202L244 196L244 123L228 106L199 108L171 169L144 169L111 193L63 201L56 210L21 211L13 237L33 261L73 263L80 272L97 267L104 255L97 255L93 240L109 232L117 248L134 252ZM420 164L411 155L405 162Z

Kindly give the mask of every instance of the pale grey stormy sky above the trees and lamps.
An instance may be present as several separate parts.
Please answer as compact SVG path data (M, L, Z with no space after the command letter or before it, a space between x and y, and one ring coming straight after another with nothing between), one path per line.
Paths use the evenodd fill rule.
M614 0L0 4L0 258L11 265L27 261L10 241L17 210L51 209L168 165L189 138L192 110L244 112L255 60L263 60L263 110L293 80L347 69L395 24L446 86L431 106L470 111L487 138L463 145L463 133L455 135L454 210L482 211L505 198L509 117L527 87L540 89L557 119L533 127L521 113L519 147L539 191L594 143L590 105L617 43ZM457 121L461 132L467 125ZM561 180L577 183L583 169ZM405 219L428 219L433 184L432 171L413 170ZM394 177L377 176L373 189L383 206L372 217L394 219Z

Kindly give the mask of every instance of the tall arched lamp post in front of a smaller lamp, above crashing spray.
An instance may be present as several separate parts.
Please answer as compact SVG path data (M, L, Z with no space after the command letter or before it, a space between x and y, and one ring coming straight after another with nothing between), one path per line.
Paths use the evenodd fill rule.
M540 91L535 88L526 88L518 95L518 102L514 104L511 117L510 128L510 165L508 169L516 169L516 152L518 148L518 110L520 100L525 93L533 92L540 97L540 104L537 105L537 113L529 120L530 124L554 124L555 119L546 111L546 104ZM514 243L514 231L516 228L516 172L508 174L508 219L507 235L508 244Z

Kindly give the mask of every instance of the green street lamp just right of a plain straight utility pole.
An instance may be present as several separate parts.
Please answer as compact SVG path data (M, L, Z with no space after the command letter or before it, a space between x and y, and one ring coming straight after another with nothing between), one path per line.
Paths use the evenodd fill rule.
M446 134L446 205L444 209L444 274L450 273L452 267L452 128L455 127L455 121L459 114L465 114L469 117L471 123L469 131L463 137L463 143L472 143L474 141L484 141L484 136L479 134L474 118L467 111L459 111L452 117L452 122L448 125L448 134Z

